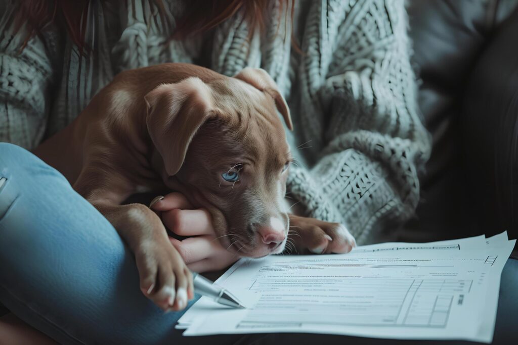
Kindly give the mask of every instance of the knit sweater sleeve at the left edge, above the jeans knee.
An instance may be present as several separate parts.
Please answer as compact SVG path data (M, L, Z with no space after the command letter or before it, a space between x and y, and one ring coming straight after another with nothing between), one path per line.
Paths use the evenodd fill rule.
M22 25L15 33L18 6L7 3L0 20L0 141L33 149L46 129L56 33L49 27L22 50L28 28Z

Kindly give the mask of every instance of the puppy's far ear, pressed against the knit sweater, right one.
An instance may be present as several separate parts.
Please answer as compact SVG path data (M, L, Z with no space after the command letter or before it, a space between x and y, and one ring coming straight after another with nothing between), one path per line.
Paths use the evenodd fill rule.
M239 73L237 73L234 76L234 78L247 82L253 87L257 88L258 90L270 95L275 101L277 110L279 110L282 117L284 118L286 126L290 130L293 130L290 109L286 104L286 100L284 99L284 97L282 97L281 93L279 92L279 89L277 88L275 81L271 79L268 72L266 72L262 68L247 67L241 70Z

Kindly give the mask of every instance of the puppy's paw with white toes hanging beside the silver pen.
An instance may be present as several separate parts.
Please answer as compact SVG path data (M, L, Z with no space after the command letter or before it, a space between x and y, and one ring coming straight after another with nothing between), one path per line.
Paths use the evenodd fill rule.
M140 290L164 311L182 310L193 298L193 278L168 241L142 244L135 251Z

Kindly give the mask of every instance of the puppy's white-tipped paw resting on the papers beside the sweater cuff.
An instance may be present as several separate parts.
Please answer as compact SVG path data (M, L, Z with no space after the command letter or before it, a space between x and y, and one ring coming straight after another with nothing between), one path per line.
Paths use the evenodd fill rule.
M356 247L353 235L342 224L293 215L288 238L300 253L348 253Z

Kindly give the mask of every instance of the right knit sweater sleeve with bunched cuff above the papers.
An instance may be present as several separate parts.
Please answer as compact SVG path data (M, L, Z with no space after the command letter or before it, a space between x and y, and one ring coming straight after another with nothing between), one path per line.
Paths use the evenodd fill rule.
M318 100L314 116L327 119L322 149L311 169L292 166L288 190L308 215L343 223L365 244L413 214L430 138L416 103L404 3L332 3L319 35L331 53L308 49L320 51L321 83L310 80L307 94ZM340 18L333 10L346 13L341 24L330 20Z

